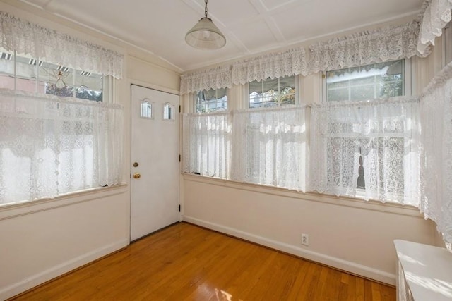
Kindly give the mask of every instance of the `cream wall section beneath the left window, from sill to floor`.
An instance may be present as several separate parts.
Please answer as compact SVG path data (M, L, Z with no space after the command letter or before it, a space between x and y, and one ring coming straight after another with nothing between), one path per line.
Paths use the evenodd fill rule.
M0 211L0 300L129 244L126 186Z

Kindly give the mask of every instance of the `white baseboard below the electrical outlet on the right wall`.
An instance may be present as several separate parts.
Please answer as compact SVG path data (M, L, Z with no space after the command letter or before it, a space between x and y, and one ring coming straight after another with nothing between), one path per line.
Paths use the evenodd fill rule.
M332 266L336 269L343 271L348 271L352 274L357 274L365 278L374 279L383 283L388 283L390 285L396 285L396 275L387 273L386 271L381 271L378 269L371 268L369 266L363 266L362 264L357 264L355 262L348 262L346 260L331 257L326 254L321 254L317 252L312 252L309 250L304 250L301 247L296 247L294 245L289 245L284 242L278 242L277 240L270 240L263 236L254 235L244 231L237 230L235 228L230 228L227 226L222 226L218 223L211 223L209 221L203 221L201 219L196 219L191 216L183 216L183 221L188 223L194 223L195 225L202 226L205 228L212 229L227 235L232 235L237 238L242 238L250 242L255 242L259 245L264 245L266 247L271 247L275 250L280 250L288 254L293 254L298 257L309 259L313 262L319 262L320 264L326 264Z

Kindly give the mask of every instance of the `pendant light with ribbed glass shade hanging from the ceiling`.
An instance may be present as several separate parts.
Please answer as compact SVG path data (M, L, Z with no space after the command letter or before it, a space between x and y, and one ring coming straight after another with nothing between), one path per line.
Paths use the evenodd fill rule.
M204 8L204 17L194 25L185 35L185 41L191 47L205 50L220 49L225 46L226 38L218 27L213 24L212 19L207 17L207 1Z

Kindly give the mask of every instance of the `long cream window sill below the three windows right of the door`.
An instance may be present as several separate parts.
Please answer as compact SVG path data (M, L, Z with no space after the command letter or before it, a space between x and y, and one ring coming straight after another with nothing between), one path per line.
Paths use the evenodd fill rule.
M223 180L220 178L209 178L206 176L199 176L190 173L183 173L182 175L184 177L184 180L191 182L206 183L210 185L218 185L227 188L266 193L268 195L277 195L280 197L291 197L294 199L303 199L305 201L311 202L322 202L336 206L353 207L371 211L381 211L391 214L408 215L424 219L422 214L420 214L420 210L411 205L402 205L389 202L382 203L379 201L372 200L364 201L364 199L354 197L336 197L335 195L326 195L318 192L297 192L295 190L287 190L285 188L277 188L250 183L241 183L233 180Z

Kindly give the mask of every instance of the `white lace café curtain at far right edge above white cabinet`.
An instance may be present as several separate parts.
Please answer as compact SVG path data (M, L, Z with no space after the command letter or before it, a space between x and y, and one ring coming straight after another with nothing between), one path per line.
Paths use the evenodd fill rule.
M422 197L420 209L452 243L452 63L421 96ZM450 247L450 245L449 245Z

